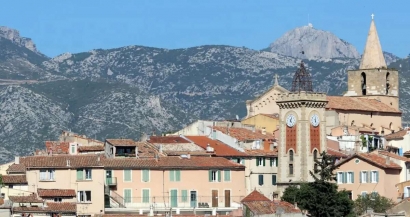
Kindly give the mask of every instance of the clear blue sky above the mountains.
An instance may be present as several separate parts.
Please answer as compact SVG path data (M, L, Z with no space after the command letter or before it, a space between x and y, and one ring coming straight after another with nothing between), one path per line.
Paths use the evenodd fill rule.
M2 2L0 26L50 57L129 45L259 50L308 22L363 53L373 13L383 50L405 57L409 7L406 0L13 0Z

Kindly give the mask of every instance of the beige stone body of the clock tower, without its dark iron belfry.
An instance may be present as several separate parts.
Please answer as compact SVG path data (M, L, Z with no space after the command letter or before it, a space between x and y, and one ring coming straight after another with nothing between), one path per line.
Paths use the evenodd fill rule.
M278 188L283 193L289 184L299 184L301 182L313 181L309 171L314 168L314 151L317 156L326 150L326 118L325 106L327 104L326 95L323 93L288 93L280 96L277 101L279 105L280 121L280 142L279 142L279 168L278 168ZM289 115L296 118L294 126L287 126L286 120ZM311 147L311 117L319 117L320 144L317 148ZM287 138L287 128L295 128L293 138ZM292 130L292 129L289 129ZM289 143L295 141L295 147L290 147ZM320 150L318 150L320 149ZM293 157L291 156L293 152ZM293 158L293 159L292 159ZM291 169L292 167L292 169ZM293 170L293 173L291 172Z

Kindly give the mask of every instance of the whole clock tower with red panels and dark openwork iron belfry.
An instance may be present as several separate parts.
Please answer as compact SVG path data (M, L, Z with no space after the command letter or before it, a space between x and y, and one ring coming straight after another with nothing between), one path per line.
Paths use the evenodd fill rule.
M292 91L281 94L279 106L278 191L289 185L313 181L314 160L326 151L327 104L325 93L313 92L309 72L303 62L296 71Z

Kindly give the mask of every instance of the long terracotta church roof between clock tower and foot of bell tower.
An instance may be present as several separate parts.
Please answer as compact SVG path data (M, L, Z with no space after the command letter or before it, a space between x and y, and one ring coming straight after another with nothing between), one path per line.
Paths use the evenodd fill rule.
M348 96L327 96L326 99L328 100L328 104L326 105L326 109L328 110L374 111L401 114L399 110L379 102L376 99Z

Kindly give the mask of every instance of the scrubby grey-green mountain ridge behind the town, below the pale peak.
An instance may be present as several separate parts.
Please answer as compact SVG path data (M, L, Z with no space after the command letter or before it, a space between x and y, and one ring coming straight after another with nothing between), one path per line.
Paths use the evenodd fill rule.
M243 117L245 101L271 87L275 74L290 89L301 62L232 46L127 46L54 58L17 39L0 37L0 46L0 100L7 102L0 105L0 150L7 150L2 162L42 148L44 140L57 139L63 129L101 140L138 139L143 132L174 131L196 119ZM304 58L316 91L340 95L346 90L346 71L357 68L360 60L353 52L344 53L332 59ZM397 60L392 66L402 64L401 108L406 108L408 60L385 55Z

